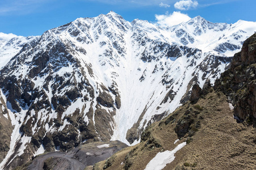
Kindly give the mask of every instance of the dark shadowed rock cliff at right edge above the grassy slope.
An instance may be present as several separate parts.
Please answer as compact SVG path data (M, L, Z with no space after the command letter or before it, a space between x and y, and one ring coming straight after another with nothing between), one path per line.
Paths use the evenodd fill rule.
M223 91L234 105L234 118L254 122L256 118L256 34L247 39L236 53L231 68L225 71L215 88Z

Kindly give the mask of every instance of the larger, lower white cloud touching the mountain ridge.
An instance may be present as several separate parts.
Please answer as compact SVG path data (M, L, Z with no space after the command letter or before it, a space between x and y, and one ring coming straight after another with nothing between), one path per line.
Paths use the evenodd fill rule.
M173 12L173 14L166 13L165 15L155 15L156 16L156 24L161 25L163 27L173 26L180 24L182 22L187 22L191 18L187 14L182 14L181 12Z

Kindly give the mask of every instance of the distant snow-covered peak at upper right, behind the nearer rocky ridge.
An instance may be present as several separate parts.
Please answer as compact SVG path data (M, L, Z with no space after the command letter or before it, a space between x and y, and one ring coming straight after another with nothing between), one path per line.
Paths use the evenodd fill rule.
M211 23L196 16L186 23L163 28L167 32L163 35L169 37L179 45L199 48L203 52L217 52L232 57L240 51L242 43L255 31L255 22L239 20L234 24Z

